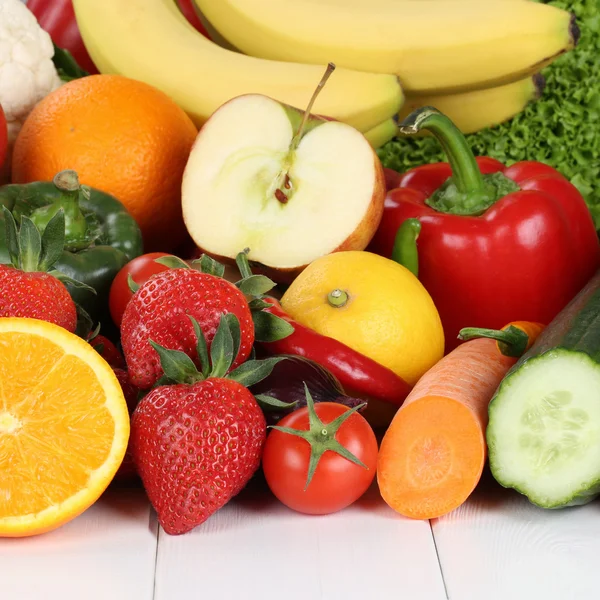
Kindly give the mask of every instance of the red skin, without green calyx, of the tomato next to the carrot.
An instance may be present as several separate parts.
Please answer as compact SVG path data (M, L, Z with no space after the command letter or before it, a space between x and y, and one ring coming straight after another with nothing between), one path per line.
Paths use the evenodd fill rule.
M315 404L315 412L325 426L348 410L335 402ZM308 431L308 408L287 415L277 426ZM305 490L311 445L296 435L271 430L263 452L263 471L271 491L283 504L301 513L324 515L346 508L367 491L377 469L377 439L371 426L362 415L354 413L342 423L335 440L367 468L327 450Z

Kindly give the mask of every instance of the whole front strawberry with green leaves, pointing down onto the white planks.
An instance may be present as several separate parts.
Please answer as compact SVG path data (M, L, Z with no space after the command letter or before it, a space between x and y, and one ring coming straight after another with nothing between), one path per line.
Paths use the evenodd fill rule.
M165 375L131 420L137 472L166 533L187 533L236 496L260 466L266 422L247 386L282 357L249 360L230 370L238 345L235 317L221 316L208 355L197 321L198 370L185 353L150 344Z

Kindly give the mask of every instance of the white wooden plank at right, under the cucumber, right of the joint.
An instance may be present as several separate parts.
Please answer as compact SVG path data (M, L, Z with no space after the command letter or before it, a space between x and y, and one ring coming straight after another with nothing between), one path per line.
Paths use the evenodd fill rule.
M490 480L432 522L449 598L598 598L600 504L542 510Z

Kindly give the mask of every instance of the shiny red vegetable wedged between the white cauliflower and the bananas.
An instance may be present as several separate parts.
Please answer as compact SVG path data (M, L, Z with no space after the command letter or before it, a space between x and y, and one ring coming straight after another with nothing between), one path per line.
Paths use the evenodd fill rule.
M82 69L90 75L98 73L83 45L72 0L27 0L27 8L35 15L40 27L50 34L52 41L68 50Z

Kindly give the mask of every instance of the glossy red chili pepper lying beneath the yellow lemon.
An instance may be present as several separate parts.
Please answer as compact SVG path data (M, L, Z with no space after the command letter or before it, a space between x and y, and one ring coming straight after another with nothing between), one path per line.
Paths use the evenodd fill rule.
M285 313L274 298L263 300L272 304L271 308L264 310L294 327L294 332L282 340L261 343L266 352L293 354L314 360L337 377L347 394L402 405L411 388L401 377L345 344L300 325Z

